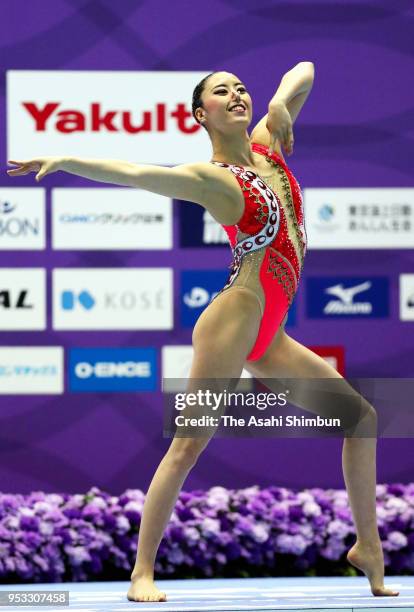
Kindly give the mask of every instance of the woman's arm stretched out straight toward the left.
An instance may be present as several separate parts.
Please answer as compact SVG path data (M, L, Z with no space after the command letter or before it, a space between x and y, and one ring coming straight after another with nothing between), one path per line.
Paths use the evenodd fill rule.
M219 222L228 218L235 207L233 182L229 182L222 169L205 162L167 168L116 159L39 157L27 161L9 160L9 164L18 166L7 170L9 176L36 172L36 180L40 181L47 174L62 170L102 183L137 187L195 202L209 210Z

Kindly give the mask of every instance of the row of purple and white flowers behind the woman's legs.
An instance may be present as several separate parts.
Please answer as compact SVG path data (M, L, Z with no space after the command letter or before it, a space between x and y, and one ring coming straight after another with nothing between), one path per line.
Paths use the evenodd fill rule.
M144 493L0 493L3 583L128 579ZM414 572L414 483L377 485L388 574ZM159 577L356 575L344 490L213 487L182 492L161 542Z

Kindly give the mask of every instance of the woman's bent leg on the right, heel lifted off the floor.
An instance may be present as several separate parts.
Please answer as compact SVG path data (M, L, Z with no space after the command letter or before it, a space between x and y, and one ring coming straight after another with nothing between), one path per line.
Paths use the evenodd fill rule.
M294 378L340 378L343 380L343 395L349 395L351 410L356 406L356 393L345 379L322 357L290 338L284 330L279 330L265 355L258 361L246 362L245 368L257 379L263 379L264 384L271 388L274 379L275 389L279 388L277 379ZM300 384L299 384L300 386ZM317 405L316 396L306 397L306 382L304 393L296 394L294 403L305 410L327 416L326 404ZM332 388L340 389L341 383L335 381ZM350 549L347 559L352 565L363 571L374 595L398 595L384 587L384 558L381 541L378 534L376 518L376 437L367 437L367 431L376 431L376 412L359 396L359 409L362 407L363 418L359 420L354 435L358 435L358 427L365 437L345 437L342 451L342 468L344 481L348 492L357 541ZM339 398L339 395L338 395ZM360 412L361 414L361 412ZM355 418L352 419L355 422Z

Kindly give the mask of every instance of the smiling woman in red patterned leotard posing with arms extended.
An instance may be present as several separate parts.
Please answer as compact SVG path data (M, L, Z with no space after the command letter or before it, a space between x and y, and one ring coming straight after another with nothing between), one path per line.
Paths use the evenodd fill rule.
M194 90L193 115L210 137L211 162L174 168L60 157L9 162L17 166L8 170L9 176L34 171L39 181L63 170L195 202L224 226L233 264L226 285L195 325L190 380L238 379L244 367L266 380L342 378L284 330L306 253L306 233L300 188L281 146L287 154L293 152L292 126L313 80L311 62L288 71L268 113L249 136L252 100L240 79L229 72L204 78ZM318 412L306 398L302 406ZM366 405L365 421L375 426L371 405ZM153 477L127 594L131 601L166 600L153 581L156 553L185 478L209 439L175 437ZM344 438L342 467L357 534L347 559L366 574L374 595L398 595L384 587L376 522L376 437Z

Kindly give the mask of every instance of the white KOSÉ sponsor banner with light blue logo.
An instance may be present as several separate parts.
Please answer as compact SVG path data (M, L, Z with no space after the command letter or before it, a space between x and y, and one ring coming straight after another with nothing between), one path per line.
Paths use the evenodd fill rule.
M172 268L53 270L54 329L172 327Z

